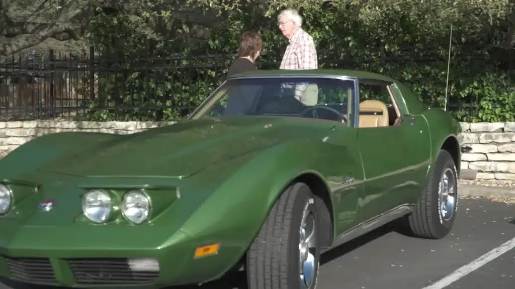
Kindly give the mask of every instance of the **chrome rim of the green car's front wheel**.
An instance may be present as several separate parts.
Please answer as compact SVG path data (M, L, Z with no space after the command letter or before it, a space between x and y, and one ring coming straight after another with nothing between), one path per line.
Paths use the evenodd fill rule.
M315 275L316 235L315 217L313 212L308 209L308 204L304 208L300 225L299 242L299 269L301 288L309 288Z

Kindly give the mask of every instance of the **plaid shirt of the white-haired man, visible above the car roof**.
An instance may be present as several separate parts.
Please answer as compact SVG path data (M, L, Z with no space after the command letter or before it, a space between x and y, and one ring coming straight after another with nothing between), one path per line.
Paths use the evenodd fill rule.
M299 28L289 39L280 69L317 69L317 49L310 34Z

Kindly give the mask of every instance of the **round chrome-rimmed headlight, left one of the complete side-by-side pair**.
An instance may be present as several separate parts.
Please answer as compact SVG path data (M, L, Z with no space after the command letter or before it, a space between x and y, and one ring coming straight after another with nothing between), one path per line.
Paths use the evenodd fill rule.
M94 199L100 204L92 205L89 197L96 194ZM101 198L101 200L99 200ZM95 209L96 208L96 209ZM102 210L98 214L98 211ZM82 213L93 223L101 224L109 220L113 212L113 198L106 190L102 189L91 189L84 193L82 196ZM98 215L98 216L96 216Z

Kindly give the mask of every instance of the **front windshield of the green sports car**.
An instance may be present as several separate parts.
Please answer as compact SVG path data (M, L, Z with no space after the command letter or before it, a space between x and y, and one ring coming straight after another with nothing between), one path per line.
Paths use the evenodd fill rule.
M295 116L347 122L354 81L316 77L231 79L191 116Z

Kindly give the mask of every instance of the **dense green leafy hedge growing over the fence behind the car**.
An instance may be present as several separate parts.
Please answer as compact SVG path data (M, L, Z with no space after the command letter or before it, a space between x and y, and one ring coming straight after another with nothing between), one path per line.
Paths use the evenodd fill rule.
M89 119L185 117L225 79L239 37L248 29L262 34L260 69L277 68L286 40L276 16L278 10L291 6L300 9L303 27L317 44L320 68L387 74L412 87L431 106L445 105L452 24L447 103L457 104L458 109L450 107L451 111L461 121L513 121L513 75L488 59L494 55L488 46L492 27L507 23L507 0L201 0L190 5L219 9L220 19L229 25L212 29L206 42L192 42L183 33L186 23L170 21L176 27L172 32L149 35L141 30L143 20L128 14L95 17L89 35L98 52L99 80Z

